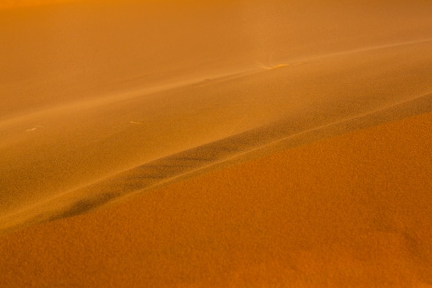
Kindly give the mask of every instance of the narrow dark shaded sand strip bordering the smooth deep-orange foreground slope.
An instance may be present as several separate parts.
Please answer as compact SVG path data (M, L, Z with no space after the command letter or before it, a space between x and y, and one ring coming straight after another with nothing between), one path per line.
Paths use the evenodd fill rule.
M3 218L0 231L80 215L108 202L155 189L183 177L203 173L230 162L291 148L326 137L432 111L432 93L337 122L316 123L285 119L187 151L133 167L81 189L39 202ZM1 232L0 232L1 233Z

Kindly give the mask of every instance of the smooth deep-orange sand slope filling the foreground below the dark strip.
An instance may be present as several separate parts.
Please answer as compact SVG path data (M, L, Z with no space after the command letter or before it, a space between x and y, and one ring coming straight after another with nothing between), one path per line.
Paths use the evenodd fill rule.
M0 285L431 287L431 127L410 117L10 233Z

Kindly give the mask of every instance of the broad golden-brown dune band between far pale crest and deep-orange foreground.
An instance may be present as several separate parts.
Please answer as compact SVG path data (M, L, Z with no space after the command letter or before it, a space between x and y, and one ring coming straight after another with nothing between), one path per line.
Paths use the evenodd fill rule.
M193 78L128 92L119 87L110 96L12 117L1 122L0 157L7 163L0 168L6 175L0 180L5 191L1 225L6 229L76 215L271 142L292 146L350 131L350 126L427 112L430 48L429 40L415 41L296 60L278 69L225 72L204 81ZM167 174L157 179L115 180L124 171L139 171L143 163L170 165L164 161L175 161L181 153L189 157L190 151L199 155L193 159L208 161L179 162L173 171L162 169ZM202 156L206 153L209 157ZM29 185L35 191L28 191ZM29 208L35 203L43 205ZM17 211L25 211L23 218L16 218Z

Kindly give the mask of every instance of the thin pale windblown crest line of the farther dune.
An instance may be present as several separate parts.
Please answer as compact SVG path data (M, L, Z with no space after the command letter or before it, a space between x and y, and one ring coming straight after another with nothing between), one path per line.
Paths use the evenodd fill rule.
M303 65L311 61L319 61L320 59L325 59L328 57L337 57L343 55L355 55L357 53L373 52L374 50L386 50L392 48L399 48L401 46L415 46L416 44L427 44L431 42L432 38L426 39L414 39L411 41L395 42L391 44L383 44L380 46L365 46L361 48L355 48L350 50L341 50L337 52L326 53L322 55L309 55L308 57L299 57L296 59L281 59L277 61L277 64L268 63L269 66L265 66L267 70L272 70L274 68L288 68L290 66ZM264 64L263 64L264 65ZM27 111L26 114L22 115L12 115L7 114L1 115L4 119L0 119L0 126L8 126L12 124L17 124L19 122L26 122L30 119L36 117L41 117L46 114L56 113L61 111L70 111L82 108L93 108L97 106L103 106L107 104L113 104L115 102L124 101L127 99L133 99L136 97L143 97L144 95L152 95L156 93L163 93L168 90L175 90L176 88L184 88L191 85L204 84L206 81L227 81L229 79L236 79L239 77L244 77L247 75L253 75L259 73L259 68L263 68L261 65L256 65L255 67L244 66L237 67L237 70L230 70L229 72L221 73L217 70L208 70L206 73L200 72L199 75L182 75L177 76L176 79L161 79L153 82L149 87L134 87L130 82L135 79L129 78L122 80L126 83L127 89L125 89L121 82L111 84L112 87L104 92L97 92L92 94L91 97L84 99L72 99L69 101L64 101L61 104L50 104L46 107L37 107L35 111ZM139 77L138 77L139 78ZM106 85L108 86L108 84ZM126 91L125 91L126 90ZM90 95L89 95L90 96ZM8 97L5 95L5 97ZM3 99L4 100L4 99Z

